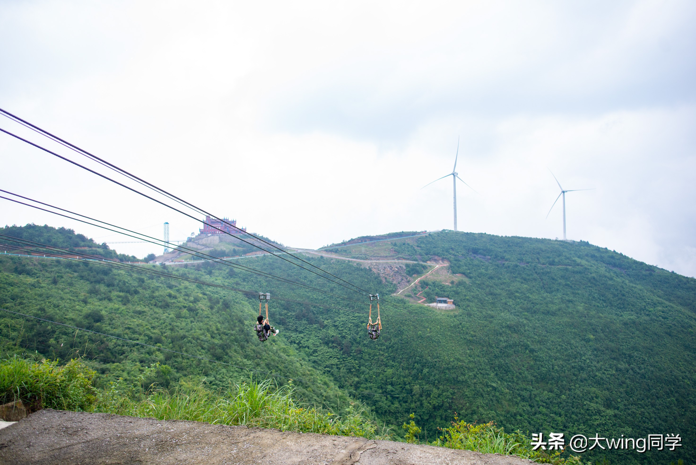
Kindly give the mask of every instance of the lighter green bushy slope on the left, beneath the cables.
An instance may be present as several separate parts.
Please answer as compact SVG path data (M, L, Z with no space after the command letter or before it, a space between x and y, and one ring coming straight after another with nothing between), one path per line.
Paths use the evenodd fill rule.
M234 281L239 287L246 284L236 282L239 278L234 270L200 265L198 268L174 272L206 280ZM308 402L337 409L346 407L349 395L335 388L333 380L317 371L285 338L273 337L266 344L258 342L252 330L258 314L255 303L256 297L249 299L200 284L125 273L97 264L0 257L3 309L223 363L1 312L0 337L5 351L21 347L50 358L69 359L76 353L94 357L90 366L104 375L97 378L97 387L113 378L135 379L144 367L156 362L167 369L159 370L148 382L156 381L165 388L187 376L205 376L211 386L221 388L247 379L250 374L278 374L285 376L278 378L280 385L290 378L299 380L299 394Z

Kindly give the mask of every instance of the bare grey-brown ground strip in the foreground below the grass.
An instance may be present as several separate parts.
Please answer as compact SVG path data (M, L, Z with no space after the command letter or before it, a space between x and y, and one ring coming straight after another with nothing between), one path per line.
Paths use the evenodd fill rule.
M0 463L523 465L534 462L432 445L45 409L0 429Z

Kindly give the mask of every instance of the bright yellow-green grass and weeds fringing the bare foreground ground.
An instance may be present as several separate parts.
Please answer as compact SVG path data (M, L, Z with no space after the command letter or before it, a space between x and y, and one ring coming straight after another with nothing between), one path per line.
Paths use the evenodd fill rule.
M180 383L171 390L142 383L155 370L152 365L135 383L122 379L109 388L92 386L96 372L82 360L59 365L57 360L29 360L14 356L0 361L0 402L21 399L52 409L114 413L157 420L193 420L213 425L246 425L278 428L281 431L360 436L367 439L393 439L388 428L379 427L365 416L364 409L351 404L345 416L301 404L294 388L278 388L270 380L237 383L226 391L213 391L204 383ZM413 418L413 415L411 415ZM419 443L420 428L411 420L405 439ZM539 463L580 465L579 457L560 457L532 450L527 436L517 431L506 433L493 422L484 425L455 418L451 427L441 429L442 436L430 445L483 453L518 455Z

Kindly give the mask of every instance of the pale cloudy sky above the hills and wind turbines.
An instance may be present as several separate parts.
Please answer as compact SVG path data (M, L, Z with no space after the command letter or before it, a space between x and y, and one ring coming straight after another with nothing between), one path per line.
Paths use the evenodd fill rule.
M0 107L294 247L452 229L451 178L423 186L459 143L459 230L562 238L553 172L592 189L567 193L569 239L694 277L695 20L679 0L0 1ZM6 134L0 161L4 190L202 227ZM31 222L161 253L0 199L1 225Z

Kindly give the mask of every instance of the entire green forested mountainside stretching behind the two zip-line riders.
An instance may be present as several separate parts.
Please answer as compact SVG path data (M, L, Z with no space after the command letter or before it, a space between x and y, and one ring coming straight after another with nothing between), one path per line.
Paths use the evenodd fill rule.
M683 445L674 452L592 451L583 459L696 461L696 280L583 242L452 231L385 238L321 251L334 257L305 257L379 292L377 341L365 334L365 298L269 256L244 264L364 303L221 264L165 267L306 302L271 298L280 335L261 344L251 331L253 296L94 264L0 257L0 307L288 376L310 402L339 409L354 397L387 425L415 413L429 441L456 412L508 431L562 432L567 440L680 434ZM454 300L455 309L416 305L436 296ZM24 344L65 357L86 347L100 354L91 363L102 374L135 376L159 360L171 368L158 379L165 386L186 376L207 376L214 386L249 376L11 314L0 315L0 328L5 351Z

